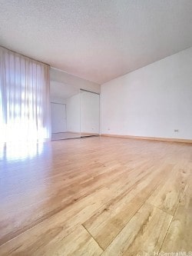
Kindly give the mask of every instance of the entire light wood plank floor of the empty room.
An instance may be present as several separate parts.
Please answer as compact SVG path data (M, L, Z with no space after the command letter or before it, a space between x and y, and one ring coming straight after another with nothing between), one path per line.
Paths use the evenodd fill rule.
M192 251L192 145L92 137L20 147L0 150L1 256Z

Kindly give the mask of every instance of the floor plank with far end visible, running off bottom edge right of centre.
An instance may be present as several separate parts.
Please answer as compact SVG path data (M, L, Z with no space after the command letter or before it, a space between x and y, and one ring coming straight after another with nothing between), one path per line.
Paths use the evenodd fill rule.
M139 255L158 252L173 217L144 204L102 254Z

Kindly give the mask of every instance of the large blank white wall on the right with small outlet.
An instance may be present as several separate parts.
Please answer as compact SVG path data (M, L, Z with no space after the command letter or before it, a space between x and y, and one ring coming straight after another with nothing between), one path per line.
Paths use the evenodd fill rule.
M192 139L192 48L101 85L101 133Z

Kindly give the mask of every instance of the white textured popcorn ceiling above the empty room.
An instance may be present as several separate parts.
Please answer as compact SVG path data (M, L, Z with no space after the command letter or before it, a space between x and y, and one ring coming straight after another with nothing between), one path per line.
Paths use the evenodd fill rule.
M0 5L0 45L99 84L192 46L191 0Z

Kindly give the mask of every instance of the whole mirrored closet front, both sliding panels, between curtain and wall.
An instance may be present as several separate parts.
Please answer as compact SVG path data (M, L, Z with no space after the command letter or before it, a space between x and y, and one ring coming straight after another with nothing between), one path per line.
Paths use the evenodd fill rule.
M100 95L51 81L52 140L100 133Z

